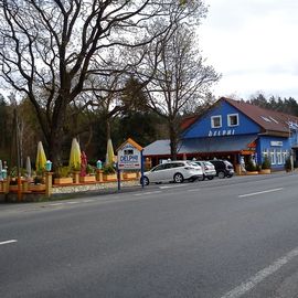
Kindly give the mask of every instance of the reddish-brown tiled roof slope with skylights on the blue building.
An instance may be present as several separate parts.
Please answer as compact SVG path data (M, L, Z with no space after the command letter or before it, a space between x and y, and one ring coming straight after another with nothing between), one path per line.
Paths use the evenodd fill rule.
M265 109L248 103L238 102L230 98L222 97L220 100L225 100L257 125L259 125L264 130L278 131L278 132L289 132L289 123L298 124L298 117Z

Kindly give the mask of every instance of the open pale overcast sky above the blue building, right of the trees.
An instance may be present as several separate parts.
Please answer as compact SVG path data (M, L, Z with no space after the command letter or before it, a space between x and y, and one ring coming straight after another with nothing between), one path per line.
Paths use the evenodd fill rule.
M213 93L298 100L298 0L205 0L199 29L206 64L222 74Z

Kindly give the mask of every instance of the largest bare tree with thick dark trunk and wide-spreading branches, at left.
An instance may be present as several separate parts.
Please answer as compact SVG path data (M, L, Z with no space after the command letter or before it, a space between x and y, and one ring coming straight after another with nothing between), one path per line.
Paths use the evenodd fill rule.
M158 46L178 20L202 6L201 1L184 2L1 1L0 75L32 102L54 166L62 150L67 105L88 91L87 78L123 73L128 66L127 49L137 53L149 44ZM188 22L191 25L196 19Z

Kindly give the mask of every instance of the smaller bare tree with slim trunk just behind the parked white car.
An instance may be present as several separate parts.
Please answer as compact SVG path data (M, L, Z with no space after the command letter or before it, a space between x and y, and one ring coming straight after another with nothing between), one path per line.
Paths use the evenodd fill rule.
M177 25L177 31L163 42L158 64L155 55L147 60L147 73L155 70L155 75L146 86L150 108L167 120L173 159L177 158L183 110L189 110L190 106L194 110L201 105L210 86L220 79L212 66L204 65L193 30L184 24Z

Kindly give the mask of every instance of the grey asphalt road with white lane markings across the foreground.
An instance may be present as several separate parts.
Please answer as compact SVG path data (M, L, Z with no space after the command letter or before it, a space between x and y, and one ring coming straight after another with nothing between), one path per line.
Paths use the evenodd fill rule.
M298 297L298 174L0 205L0 297Z

